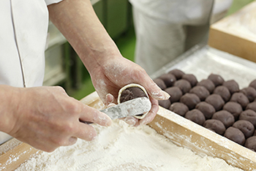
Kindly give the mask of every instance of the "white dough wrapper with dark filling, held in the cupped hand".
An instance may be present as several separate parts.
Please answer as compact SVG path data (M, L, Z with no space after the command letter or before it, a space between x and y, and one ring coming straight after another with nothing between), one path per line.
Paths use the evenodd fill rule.
M124 86L121 88L118 92L118 104L122 102L126 102L131 99L135 99L138 97L148 97L148 93L146 92L146 89L143 88L143 86L140 86L139 84L128 84L127 86ZM148 97L149 98L149 97ZM135 115L135 118L142 119L144 118L148 113L143 113L143 115Z

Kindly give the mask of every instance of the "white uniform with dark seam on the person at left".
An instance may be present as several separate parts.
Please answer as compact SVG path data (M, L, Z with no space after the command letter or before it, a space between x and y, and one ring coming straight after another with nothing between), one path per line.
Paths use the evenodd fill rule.
M0 84L42 86L48 4L61 0L0 1ZM0 144L10 136L0 132Z

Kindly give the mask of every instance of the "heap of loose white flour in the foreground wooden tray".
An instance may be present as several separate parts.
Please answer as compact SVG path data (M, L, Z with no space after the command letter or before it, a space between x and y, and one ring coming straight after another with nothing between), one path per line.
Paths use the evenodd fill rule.
M41 153L22 164L20 170L240 170L222 159L200 157L187 148L174 145L149 126L133 127L115 121L105 128L95 126L98 137L92 142Z

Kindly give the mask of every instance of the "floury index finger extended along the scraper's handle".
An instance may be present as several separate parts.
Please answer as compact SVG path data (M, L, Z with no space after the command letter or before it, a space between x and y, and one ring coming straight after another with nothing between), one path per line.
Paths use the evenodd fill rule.
M86 105L84 105L79 119L80 121L97 123L101 126L110 126L112 123L112 120L108 115Z

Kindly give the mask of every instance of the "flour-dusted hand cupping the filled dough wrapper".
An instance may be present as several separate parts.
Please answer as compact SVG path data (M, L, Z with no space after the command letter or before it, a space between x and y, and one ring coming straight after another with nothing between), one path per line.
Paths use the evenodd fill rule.
M151 122L155 115L157 115L159 109L157 100L168 99L170 97L169 94L162 91L151 80L143 68L123 57L108 58L108 61L104 61L104 64L100 64L90 74L95 90L102 99L102 102L107 105L116 103L119 89L129 83L140 84L146 89L151 100L151 110L141 120L134 117L124 118L124 121L130 125L138 126Z

